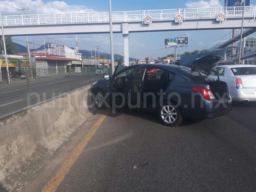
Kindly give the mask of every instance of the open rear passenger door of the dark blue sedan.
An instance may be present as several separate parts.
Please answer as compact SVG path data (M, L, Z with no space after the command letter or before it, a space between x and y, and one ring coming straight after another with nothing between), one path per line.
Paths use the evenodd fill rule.
M135 68L130 73L128 81L124 86L124 96L130 109L140 106L144 73L145 66Z

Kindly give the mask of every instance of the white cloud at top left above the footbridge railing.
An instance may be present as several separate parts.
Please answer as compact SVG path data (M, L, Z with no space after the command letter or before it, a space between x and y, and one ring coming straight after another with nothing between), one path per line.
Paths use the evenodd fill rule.
M22 15L23 13L21 11L17 11L17 9L22 9L22 7L30 8L29 11L25 11L28 15L32 14L33 11L34 14L94 12L84 5L68 5L64 1L49 1L44 3L42 0L13 0L12 2L5 0L0 2L2 3L2 15Z

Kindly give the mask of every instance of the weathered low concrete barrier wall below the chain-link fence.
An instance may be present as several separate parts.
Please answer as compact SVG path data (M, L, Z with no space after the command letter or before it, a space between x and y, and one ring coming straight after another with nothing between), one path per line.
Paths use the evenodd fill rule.
M91 115L87 106L89 88L0 120L0 183L11 190L6 180L13 172L22 172L26 164L58 148Z

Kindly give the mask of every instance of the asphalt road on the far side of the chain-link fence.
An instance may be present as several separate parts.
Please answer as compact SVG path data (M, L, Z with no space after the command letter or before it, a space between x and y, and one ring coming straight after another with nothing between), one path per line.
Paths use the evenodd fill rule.
M95 73L91 73L91 81L88 73L76 73L71 77L68 73L36 77L31 79L32 97L29 100L27 80L14 79L9 85L0 85L0 116L84 87L100 78L103 76Z

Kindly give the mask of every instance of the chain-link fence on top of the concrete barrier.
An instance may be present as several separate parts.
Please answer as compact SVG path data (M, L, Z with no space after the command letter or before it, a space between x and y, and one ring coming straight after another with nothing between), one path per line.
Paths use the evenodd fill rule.
M109 68L2 68L0 119L64 93L92 84L111 74Z

